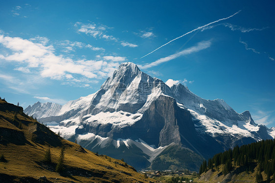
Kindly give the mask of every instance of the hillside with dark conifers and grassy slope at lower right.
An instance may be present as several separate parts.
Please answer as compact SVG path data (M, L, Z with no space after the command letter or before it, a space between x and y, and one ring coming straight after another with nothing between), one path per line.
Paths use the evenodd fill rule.
M215 155L203 162L196 181L275 183L275 140L236 146Z

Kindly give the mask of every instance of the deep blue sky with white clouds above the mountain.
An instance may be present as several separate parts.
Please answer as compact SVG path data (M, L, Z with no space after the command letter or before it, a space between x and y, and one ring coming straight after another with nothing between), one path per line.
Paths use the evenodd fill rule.
M274 7L272 0L0 0L0 96L24 108L64 104L96 92L130 61L272 127Z

